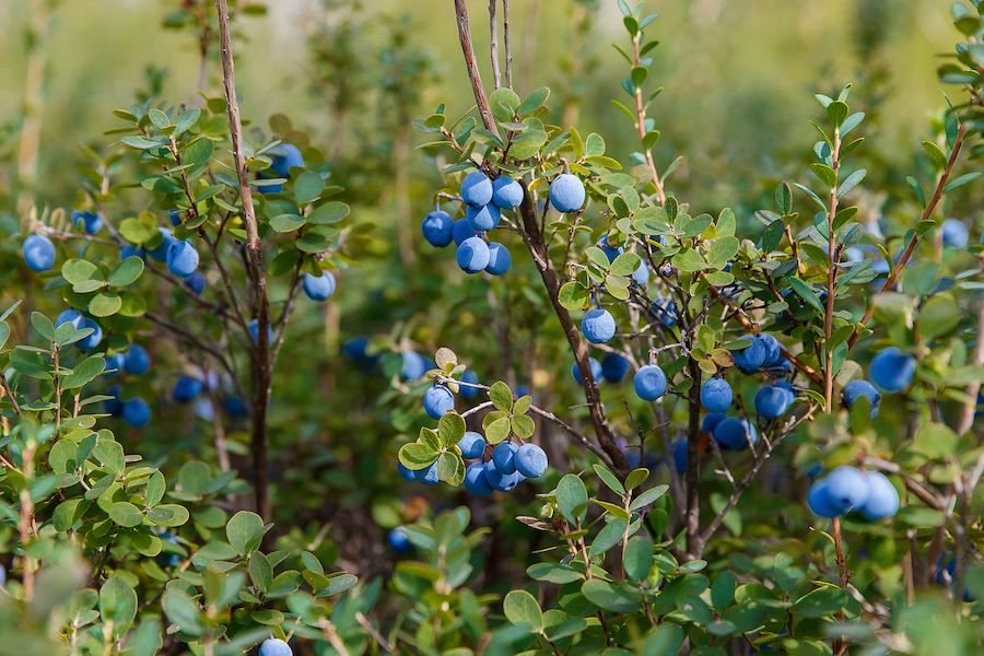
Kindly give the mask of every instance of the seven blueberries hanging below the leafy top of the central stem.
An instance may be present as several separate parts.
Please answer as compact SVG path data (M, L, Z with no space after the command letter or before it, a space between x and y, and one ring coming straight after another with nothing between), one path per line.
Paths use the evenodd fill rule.
M438 248L454 242L455 259L466 273L485 271L502 276L509 270L513 258L504 245L490 242L488 234L499 225L502 212L519 207L523 197L523 186L508 176L492 180L481 171L469 173L461 181L465 216L455 221L438 207L424 216L423 236ZM558 211L576 212L584 206L584 184L575 175L561 174L551 183L549 197Z

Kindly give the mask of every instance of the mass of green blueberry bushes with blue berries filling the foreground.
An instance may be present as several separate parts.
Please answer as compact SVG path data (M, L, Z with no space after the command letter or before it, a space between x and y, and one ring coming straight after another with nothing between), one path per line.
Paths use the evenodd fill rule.
M980 652L984 8L904 167L842 83L721 203L660 140L644 3L572 0L569 84L623 30L582 133L573 86L514 91L507 0L447 3L475 104L417 120L444 72L327 2L324 140L241 117L265 8L231 4L164 19L197 97L149 71L70 210L2 208L3 649Z

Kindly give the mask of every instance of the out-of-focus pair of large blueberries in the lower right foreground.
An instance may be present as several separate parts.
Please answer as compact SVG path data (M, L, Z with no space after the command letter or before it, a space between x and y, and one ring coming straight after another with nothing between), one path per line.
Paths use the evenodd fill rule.
M821 517L859 511L865 518L877 522L899 512L899 492L880 471L845 465L810 485L807 504Z

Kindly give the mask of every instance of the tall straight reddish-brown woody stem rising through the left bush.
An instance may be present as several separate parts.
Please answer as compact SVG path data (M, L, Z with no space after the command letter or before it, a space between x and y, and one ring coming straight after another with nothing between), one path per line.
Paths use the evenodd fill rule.
M239 180L239 195L243 200L243 214L246 223L246 250L250 278L253 279L254 309L257 319L257 338L255 348L250 349L253 360L253 469L256 485L256 511L265 523L270 522L270 478L267 466L267 406L270 400L270 343L267 328L270 325L270 303L267 298L267 280L263 277L263 254L260 250L259 235L256 229L256 212L253 208L253 195L249 190L249 177L246 172L246 155L243 148L243 124L239 120L239 104L236 102L236 81L233 70L233 54L229 30L229 4L226 0L216 0L219 9L219 44L222 55L222 82L225 87L225 101L229 106L229 127L235 155L236 175Z

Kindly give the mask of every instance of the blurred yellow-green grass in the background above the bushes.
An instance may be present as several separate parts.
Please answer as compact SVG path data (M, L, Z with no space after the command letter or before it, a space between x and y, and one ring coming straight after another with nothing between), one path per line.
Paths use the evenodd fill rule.
M168 71L164 98L194 99L195 43L188 33L161 28L162 17L175 4L71 0L56 5L46 45L40 179L48 184L43 198L63 203L73 197L71 166L82 161L75 144L108 141L102 131L117 127L109 109L128 106L134 89L147 89L148 65ZM332 2L333 7L344 4L349 3ZM579 93L578 130L602 133L609 154L628 163L626 155L635 148L631 125L609 102L629 98L619 85L625 62L608 45L612 40L626 45L616 1L581 2L598 11L576 52L569 45L578 4L573 0L536 3L536 33L530 39L535 47L525 51L532 4L532 0L512 2L517 91L523 95L547 84L554 90L554 108ZM4 62L0 120L16 118L21 110L31 5L27 0L0 2L0 24L9 26L0 34L0 61ZM236 44L244 116L265 125L270 114L286 112L315 139L329 139L335 130L325 110L329 98L309 83L307 48L312 27L325 20L324 10L317 0L274 0L269 5L266 17L239 23L248 37ZM648 84L666 87L651 107L664 134L657 163L666 166L677 154L686 155L670 187L689 191L701 206L722 207L736 202L736 191L749 194L763 176L797 175L797 168L790 169L784 160L795 163L809 153L815 133L807 120L820 112L812 94L835 94L847 82L855 84L853 106L877 114L877 124L866 125L868 148L888 163L907 160L925 133L926 108L944 104L934 54L952 47L948 7L938 0L649 2L647 10L658 11L660 17L647 37L661 44L654 51ZM487 54L488 2L472 1L469 9L476 47ZM386 21L408 10L412 10L412 26L403 47L432 51L443 73L420 90L419 115L446 101L448 114L458 116L472 99L447 0L362 3L356 15L365 21L355 35L361 46L358 54L364 62L378 66L387 46ZM524 87L527 57L530 75ZM589 63L583 79L572 82L563 67L573 58ZM490 85L488 56L481 65ZM211 81L212 93L219 93L214 61ZM368 80L370 86L376 83ZM552 116L559 117L559 113ZM379 118L378 122L385 121ZM410 160L419 162L419 153L411 153Z

